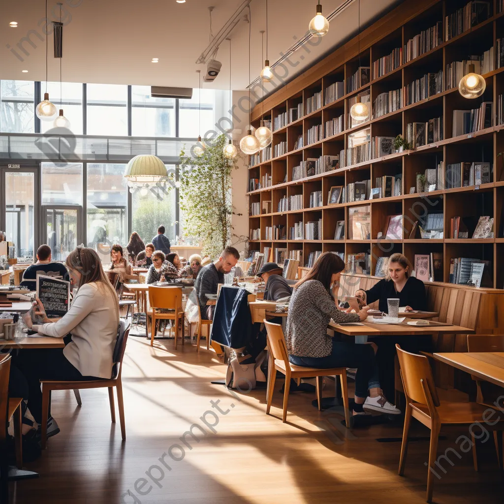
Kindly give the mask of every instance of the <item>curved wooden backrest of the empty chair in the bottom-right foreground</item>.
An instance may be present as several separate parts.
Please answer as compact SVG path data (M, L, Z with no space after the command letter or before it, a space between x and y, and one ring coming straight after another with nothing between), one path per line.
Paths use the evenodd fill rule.
M424 355L406 352L396 344L401 376L403 377L404 392L408 399L415 403L428 405L429 398L426 397L423 383L427 385L427 393L430 395L430 402L434 406L439 406L436 386L430 364Z

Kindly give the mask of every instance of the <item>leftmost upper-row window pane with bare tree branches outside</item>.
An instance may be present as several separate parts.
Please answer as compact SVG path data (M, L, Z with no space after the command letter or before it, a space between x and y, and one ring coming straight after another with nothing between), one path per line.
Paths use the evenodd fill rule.
M35 132L35 83L0 81L0 131Z

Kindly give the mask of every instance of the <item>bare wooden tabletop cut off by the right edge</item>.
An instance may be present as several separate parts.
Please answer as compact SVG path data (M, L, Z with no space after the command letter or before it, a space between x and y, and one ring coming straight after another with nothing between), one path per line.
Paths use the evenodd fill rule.
M435 353L434 359L504 387L504 352Z

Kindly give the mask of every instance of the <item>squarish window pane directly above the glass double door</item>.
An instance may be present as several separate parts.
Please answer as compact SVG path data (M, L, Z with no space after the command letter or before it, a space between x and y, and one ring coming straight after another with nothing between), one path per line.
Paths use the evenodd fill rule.
M82 163L41 163L42 205L82 205Z

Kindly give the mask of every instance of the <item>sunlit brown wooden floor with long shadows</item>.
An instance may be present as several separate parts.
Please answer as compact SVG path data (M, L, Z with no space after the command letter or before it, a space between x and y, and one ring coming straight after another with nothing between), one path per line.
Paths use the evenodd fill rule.
M123 386L127 440L110 423L106 390L81 391L82 407L71 391L53 393L52 414L61 432L29 469L40 478L12 483L16 504L301 504L424 502L428 442L410 444L405 477L397 475L400 443L379 437L400 436L401 427L375 425L346 431L342 414L319 413L314 394L291 394L289 423L280 415L277 380L274 416L265 414L265 390L233 395L222 385L225 367L213 352L186 344L176 352L173 340L130 337L124 357ZM331 394L331 387L325 395ZM210 401L226 414L212 408ZM227 411L229 410L229 411ZM206 413L212 411L212 413ZM180 437L201 417L215 425L203 436ZM218 423L217 423L218 422ZM415 422L415 420L413 420ZM413 434L426 434L418 424ZM464 429L445 432L440 450L457 447ZM174 446L178 445L178 446ZM182 452L179 447L183 447ZM441 452L440 452L441 453ZM168 455L164 455L168 454ZM170 458L171 455L171 458ZM480 471L471 454L434 485L440 503L502 502L492 438L480 447ZM169 471L159 461L164 461ZM155 466L163 469L163 474ZM156 485L147 475L159 479ZM142 480L141 478L146 478ZM150 490L150 491L149 491ZM149 491L147 493L147 491ZM144 495L142 495L142 492Z

